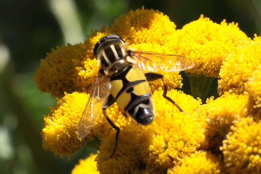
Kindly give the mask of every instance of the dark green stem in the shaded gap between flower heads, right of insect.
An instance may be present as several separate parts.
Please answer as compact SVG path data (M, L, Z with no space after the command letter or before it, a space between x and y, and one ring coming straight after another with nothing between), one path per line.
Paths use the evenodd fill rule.
M215 77L205 75L189 76L191 95L196 99L205 101L210 90L210 86Z

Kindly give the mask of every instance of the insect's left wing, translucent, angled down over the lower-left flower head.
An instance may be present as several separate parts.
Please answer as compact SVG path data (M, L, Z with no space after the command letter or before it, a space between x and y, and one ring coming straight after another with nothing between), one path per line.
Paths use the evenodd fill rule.
M98 76L93 84L89 99L81 116L78 129L80 139L85 138L99 120L103 102L108 97L109 91L110 83L102 82L102 77Z

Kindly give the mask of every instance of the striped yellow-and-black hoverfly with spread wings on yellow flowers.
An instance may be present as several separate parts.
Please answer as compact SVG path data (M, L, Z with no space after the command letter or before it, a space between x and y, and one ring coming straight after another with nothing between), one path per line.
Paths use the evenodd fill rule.
M98 115L103 112L108 123L117 130L114 150L120 134L120 128L109 119L106 108L117 102L126 115L141 125L148 125L154 119L152 92L148 81L162 79L163 97L183 110L171 98L166 96L167 85L162 74L156 72L183 71L194 63L187 57L165 53L130 50L117 35L102 37L94 47L94 55L99 74L92 86L79 123L79 137L85 138L91 131ZM143 70L149 70L143 73Z

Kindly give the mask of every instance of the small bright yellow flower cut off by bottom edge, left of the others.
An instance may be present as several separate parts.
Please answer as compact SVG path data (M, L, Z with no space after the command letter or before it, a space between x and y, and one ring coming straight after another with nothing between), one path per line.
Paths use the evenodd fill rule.
M80 159L79 164L76 164L71 174L98 174L95 158L97 155L91 154L85 160Z

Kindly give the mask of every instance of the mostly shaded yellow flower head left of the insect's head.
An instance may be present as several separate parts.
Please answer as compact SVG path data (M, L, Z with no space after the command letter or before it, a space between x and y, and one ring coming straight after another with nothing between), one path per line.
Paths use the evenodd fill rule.
M60 98L64 96L64 92L90 92L98 74L93 48L96 42L107 34L106 31L105 27L101 31L92 31L88 36L89 40L83 44L68 44L52 49L52 52L41 60L35 74L38 89Z

